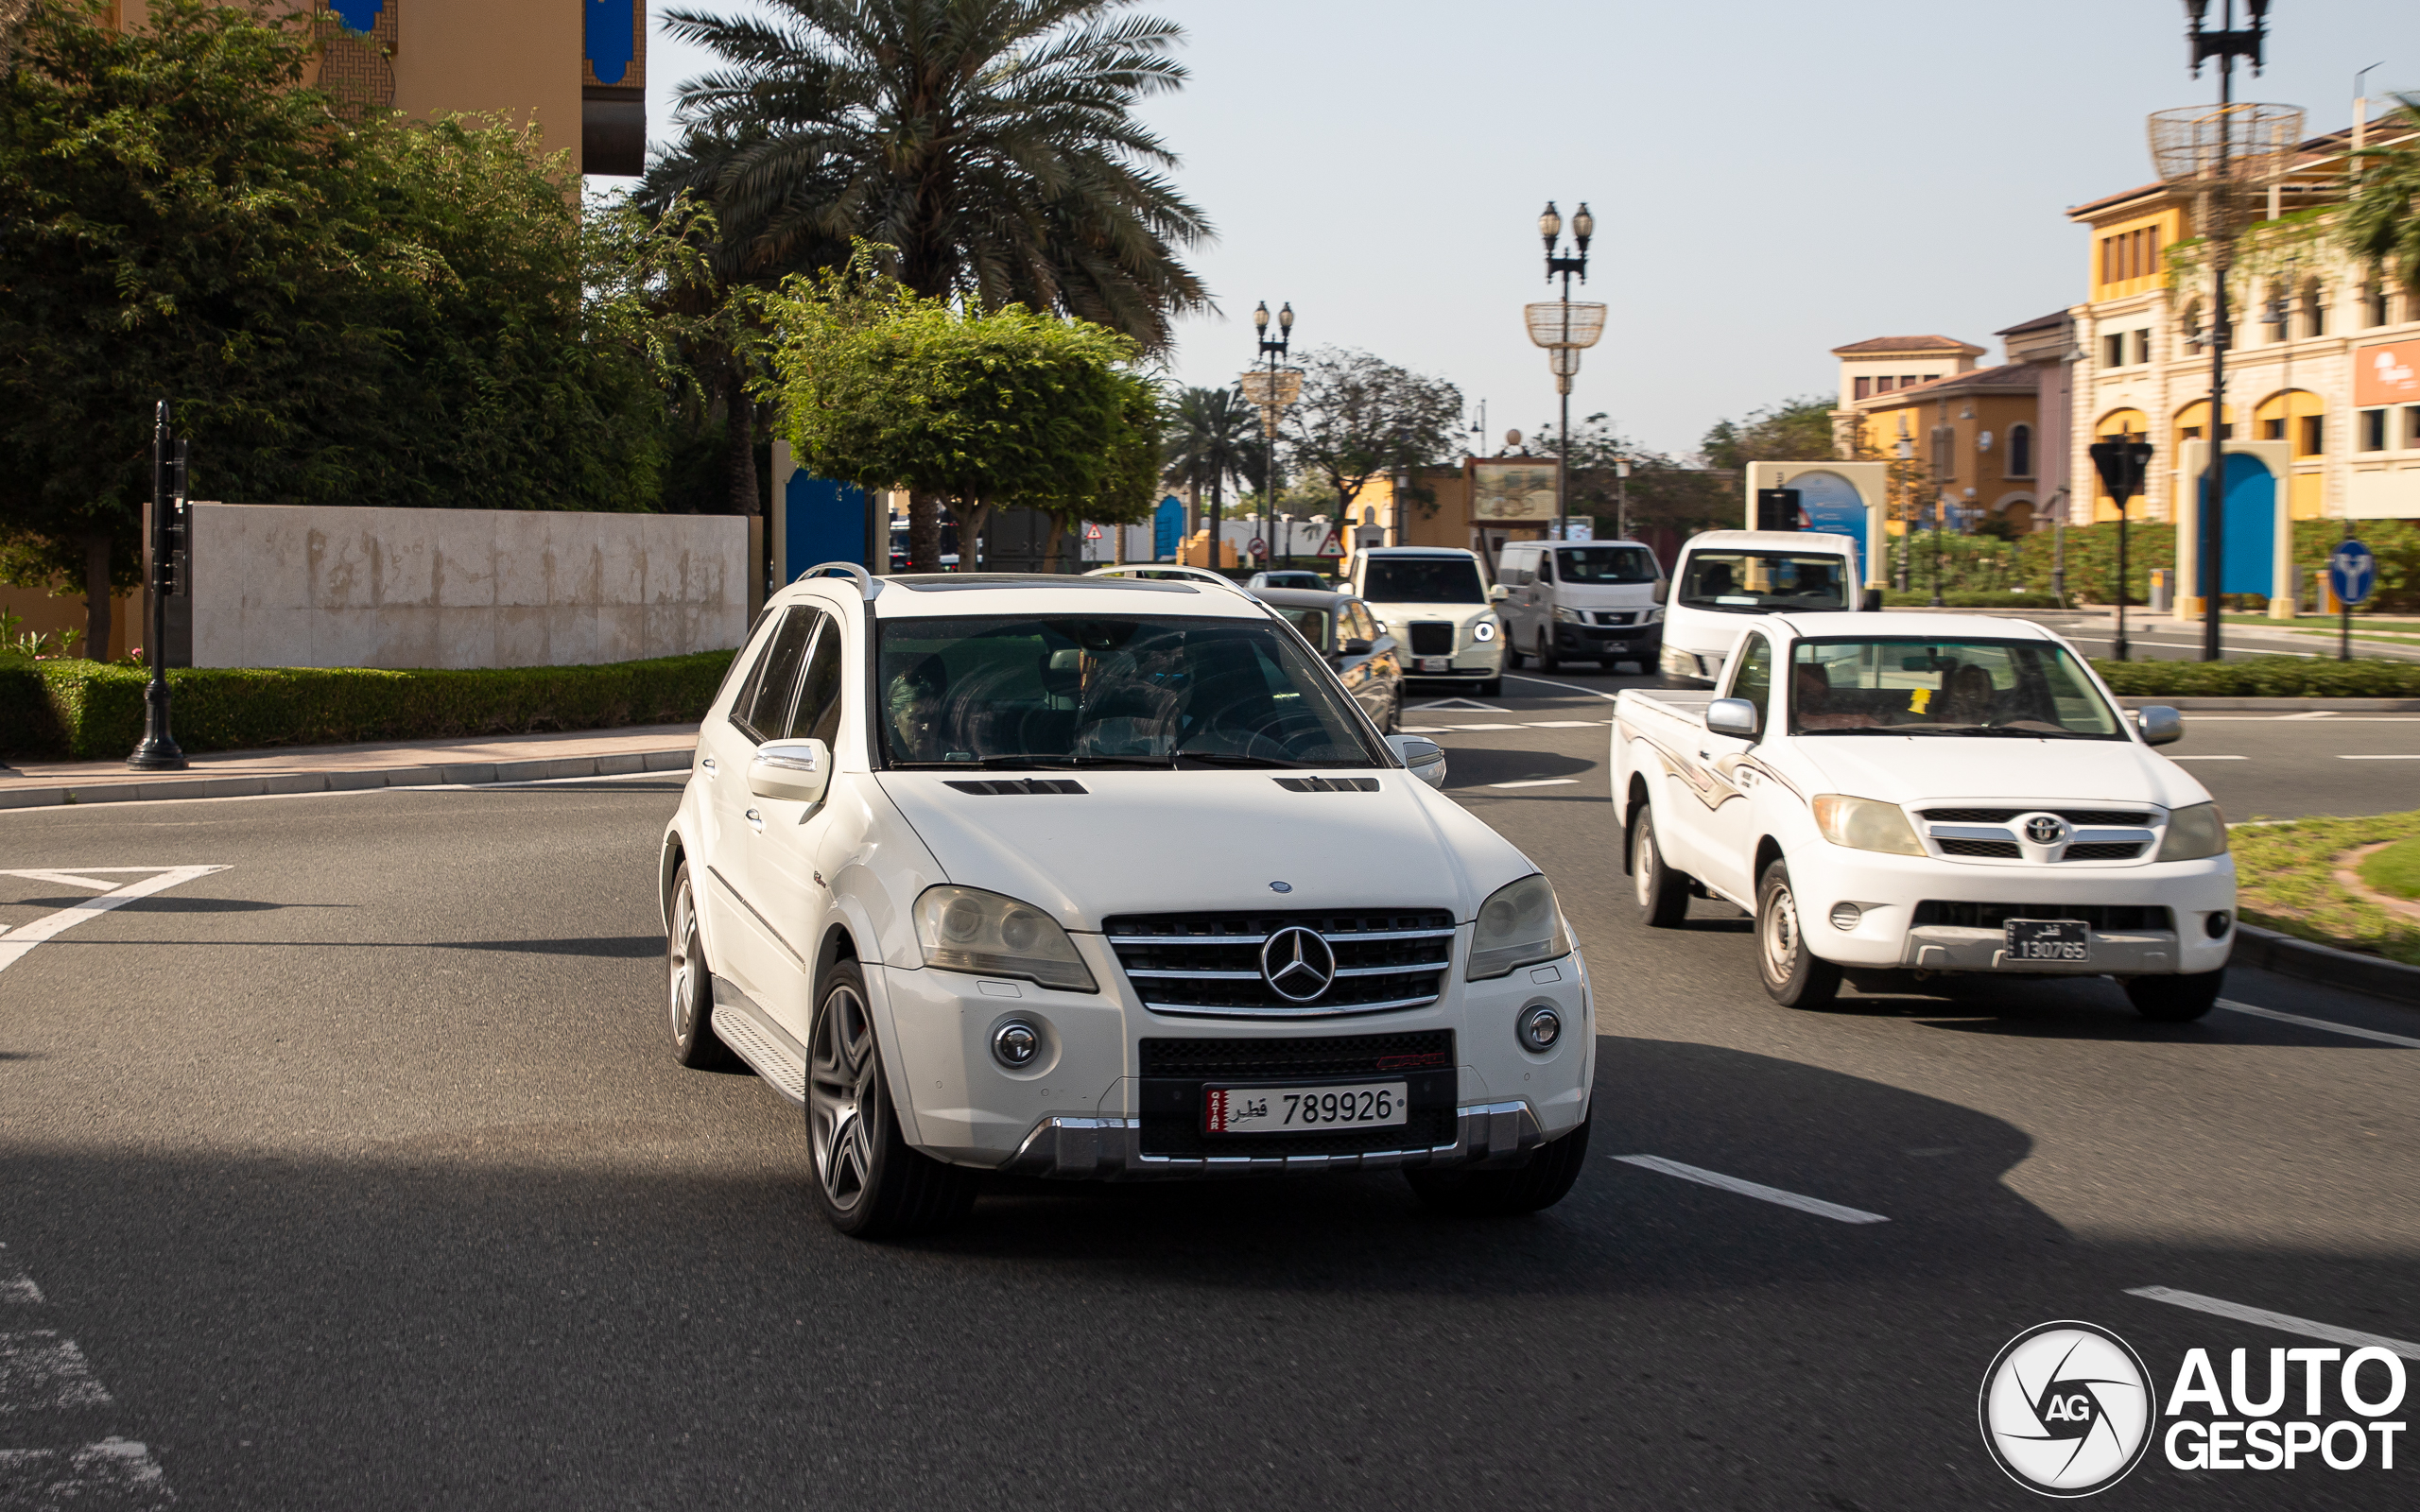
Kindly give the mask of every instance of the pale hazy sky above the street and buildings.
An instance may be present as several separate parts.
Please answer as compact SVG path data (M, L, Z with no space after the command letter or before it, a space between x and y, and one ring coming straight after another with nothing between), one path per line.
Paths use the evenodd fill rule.
M680 0L743 10L755 0ZM2226 0L2219 0L2224 5ZM2212 24L2217 10L2212 5ZM649 135L711 65L649 0ZM2067 206L2151 179L2144 116L2217 97L2178 0L1159 0L1191 80L1145 102L1179 189L1217 227L1217 300L1171 373L1229 382L1251 310L1295 348L1350 346L1452 380L1488 435L1556 414L1522 305L1549 300L1537 215L1597 218L1604 339L1573 416L1663 452L1725 416L1837 389L1830 348L1992 331L2084 298ZM2238 99L2352 116L2420 90L2420 5L2277 0ZM1488 448L1493 450L1493 445Z

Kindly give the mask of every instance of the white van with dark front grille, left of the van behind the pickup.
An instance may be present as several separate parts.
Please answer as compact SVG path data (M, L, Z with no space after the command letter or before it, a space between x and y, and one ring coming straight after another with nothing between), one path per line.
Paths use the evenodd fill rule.
M1505 542L1496 581L1505 585L1498 612L1515 668L1522 656L1534 656L1546 673L1566 660L1592 660L1607 670L1636 660L1641 670L1655 670L1665 576L1648 547Z

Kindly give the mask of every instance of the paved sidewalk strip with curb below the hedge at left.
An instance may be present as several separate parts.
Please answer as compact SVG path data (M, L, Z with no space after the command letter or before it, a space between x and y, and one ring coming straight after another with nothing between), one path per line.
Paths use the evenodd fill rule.
M128 772L123 760L19 762L0 764L0 808L687 772L695 748L695 723L656 723L566 735L218 750L189 757L184 772Z

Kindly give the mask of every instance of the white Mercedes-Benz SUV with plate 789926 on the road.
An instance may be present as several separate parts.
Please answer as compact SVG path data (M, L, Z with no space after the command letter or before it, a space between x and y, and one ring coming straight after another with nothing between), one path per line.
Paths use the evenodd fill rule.
M1437 748L1208 573L840 571L733 660L658 888L673 1052L803 1106L842 1231L946 1224L983 1171L1563 1198L1588 970Z

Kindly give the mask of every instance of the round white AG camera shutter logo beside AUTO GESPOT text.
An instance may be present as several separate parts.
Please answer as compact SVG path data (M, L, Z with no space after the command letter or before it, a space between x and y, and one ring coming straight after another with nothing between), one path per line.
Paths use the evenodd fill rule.
M2151 1374L2096 1323L2042 1323L2011 1338L1982 1377L1982 1442L2026 1490L2081 1497L2127 1478L2151 1449Z

